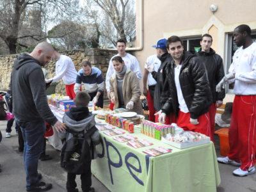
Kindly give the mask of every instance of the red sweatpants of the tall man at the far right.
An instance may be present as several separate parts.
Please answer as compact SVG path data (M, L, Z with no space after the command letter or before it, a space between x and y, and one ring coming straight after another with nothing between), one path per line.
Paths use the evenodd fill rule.
M256 95L236 95L233 103L228 140L228 158L241 162L241 170L255 164Z

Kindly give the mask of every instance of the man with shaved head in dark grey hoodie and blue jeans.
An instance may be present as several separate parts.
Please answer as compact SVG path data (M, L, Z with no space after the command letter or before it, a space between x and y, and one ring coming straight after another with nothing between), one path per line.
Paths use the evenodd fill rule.
M41 42L30 54L20 54L14 61L12 71L13 114L24 138L27 191L47 191L52 188L52 184L39 182L42 175L37 172L44 144L45 121L58 132L65 130L65 126L52 114L47 103L41 68L49 63L53 52L51 44Z

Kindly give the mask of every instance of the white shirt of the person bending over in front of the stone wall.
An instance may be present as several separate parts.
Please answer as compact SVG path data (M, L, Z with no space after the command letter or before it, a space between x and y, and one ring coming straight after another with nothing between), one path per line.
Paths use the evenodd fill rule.
M52 83L59 81L61 78L64 84L76 83L77 71L73 61L68 56L61 54L60 59L56 62L55 74L56 75L51 78Z

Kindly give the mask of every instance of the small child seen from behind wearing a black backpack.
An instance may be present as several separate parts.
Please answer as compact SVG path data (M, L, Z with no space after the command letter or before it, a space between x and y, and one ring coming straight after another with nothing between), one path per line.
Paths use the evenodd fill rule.
M78 192L76 175L81 175L83 192L93 192L91 162L97 156L94 146L100 143L99 131L95 127L94 115L89 112L90 95L78 92L71 108L63 116L66 133L60 133L61 140L66 139L61 149L61 167L67 171L67 191ZM95 156L96 155L96 156Z

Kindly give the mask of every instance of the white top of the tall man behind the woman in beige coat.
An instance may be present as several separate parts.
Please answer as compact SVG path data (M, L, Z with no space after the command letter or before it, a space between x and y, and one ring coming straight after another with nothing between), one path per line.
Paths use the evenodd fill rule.
M116 54L115 56L119 56L119 55ZM114 58L115 56L113 56L112 58ZM109 79L115 73L115 69L112 63L112 58L109 61L108 72L106 74L106 89L108 92L109 92ZM141 70L140 70L140 63L136 59L136 57L132 56L129 53L126 53L126 55L122 57L122 59L124 60L126 67L129 68L132 72L134 72L138 77L138 79L141 79L142 76L141 76Z

